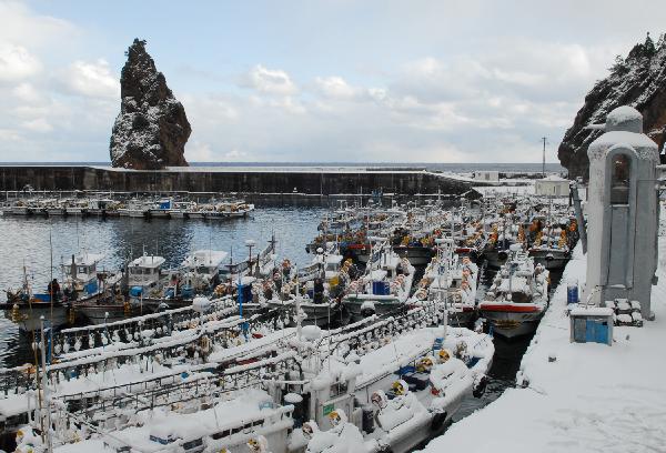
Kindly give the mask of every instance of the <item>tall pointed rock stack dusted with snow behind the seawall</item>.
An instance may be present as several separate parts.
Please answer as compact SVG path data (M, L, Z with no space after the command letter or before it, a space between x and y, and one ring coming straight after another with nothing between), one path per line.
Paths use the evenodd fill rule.
M111 133L112 165L137 170L188 165L184 151L192 128L185 109L155 69L145 41L134 39L127 56L120 113Z

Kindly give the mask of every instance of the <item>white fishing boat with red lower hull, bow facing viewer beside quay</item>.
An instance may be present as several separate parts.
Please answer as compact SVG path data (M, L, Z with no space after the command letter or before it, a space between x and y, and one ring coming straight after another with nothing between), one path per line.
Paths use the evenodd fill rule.
M511 256L480 303L482 316L494 333L514 338L533 333L548 305L548 271L523 251L511 246Z

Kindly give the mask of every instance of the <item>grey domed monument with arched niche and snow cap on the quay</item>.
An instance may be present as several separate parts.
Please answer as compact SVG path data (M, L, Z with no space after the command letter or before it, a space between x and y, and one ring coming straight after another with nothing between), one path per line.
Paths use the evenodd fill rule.
M587 150L588 258L585 299L604 305L636 300L650 315L650 291L657 269L657 145L643 133L634 108L613 110L605 133Z

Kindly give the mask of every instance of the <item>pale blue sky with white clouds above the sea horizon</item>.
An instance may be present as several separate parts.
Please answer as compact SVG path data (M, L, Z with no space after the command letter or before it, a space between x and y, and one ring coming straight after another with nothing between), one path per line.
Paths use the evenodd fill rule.
M108 162L134 38L189 161L539 162L663 0L0 0L0 161Z

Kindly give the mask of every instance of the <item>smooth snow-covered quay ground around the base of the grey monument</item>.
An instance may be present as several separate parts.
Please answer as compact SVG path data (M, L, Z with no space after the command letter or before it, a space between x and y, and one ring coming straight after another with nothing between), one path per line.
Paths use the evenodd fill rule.
M424 451L666 452L666 238L659 255L656 321L614 328L613 346L578 344L569 343L565 314L565 282L585 280L578 245L523 358L518 380L527 387L507 390Z

